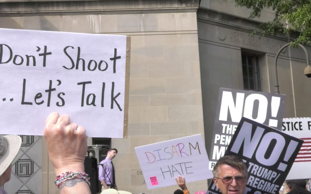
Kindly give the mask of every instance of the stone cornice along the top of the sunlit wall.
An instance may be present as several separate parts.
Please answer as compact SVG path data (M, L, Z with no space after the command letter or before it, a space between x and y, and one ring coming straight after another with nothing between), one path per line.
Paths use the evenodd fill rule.
M0 16L196 12L199 0L0 0Z

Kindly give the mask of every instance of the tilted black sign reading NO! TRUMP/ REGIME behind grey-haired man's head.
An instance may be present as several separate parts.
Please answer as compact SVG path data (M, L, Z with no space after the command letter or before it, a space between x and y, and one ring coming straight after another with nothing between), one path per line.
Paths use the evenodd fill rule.
M303 140L242 117L225 155L242 158L248 168L246 194L277 194ZM214 182L207 194L220 193Z

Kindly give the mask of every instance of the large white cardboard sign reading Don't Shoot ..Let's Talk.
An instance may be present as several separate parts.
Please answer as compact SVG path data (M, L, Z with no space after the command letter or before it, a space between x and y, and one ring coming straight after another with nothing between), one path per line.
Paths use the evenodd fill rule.
M90 137L127 135L129 37L18 29L0 37L0 134L43 135L57 111Z

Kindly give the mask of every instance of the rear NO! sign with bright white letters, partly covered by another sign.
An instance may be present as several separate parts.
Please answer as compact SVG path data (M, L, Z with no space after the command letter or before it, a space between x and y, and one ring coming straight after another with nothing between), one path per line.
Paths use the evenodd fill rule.
M285 95L220 88L209 169L224 156L242 116L281 130L284 103Z

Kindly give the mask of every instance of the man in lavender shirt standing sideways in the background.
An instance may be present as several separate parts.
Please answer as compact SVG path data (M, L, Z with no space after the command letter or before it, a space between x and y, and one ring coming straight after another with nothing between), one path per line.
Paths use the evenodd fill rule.
M107 152L106 159L100 162L98 178L102 184L102 191L108 188L117 189L117 184L115 182L115 169L112 163L112 159L114 159L117 154L117 149L110 149Z

